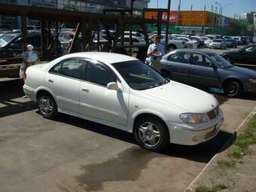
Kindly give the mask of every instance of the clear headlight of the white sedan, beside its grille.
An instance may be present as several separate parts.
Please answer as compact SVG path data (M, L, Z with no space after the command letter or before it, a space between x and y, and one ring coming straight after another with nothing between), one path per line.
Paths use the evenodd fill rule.
M180 115L181 120L183 120L185 123L205 123L209 121L209 117L207 114L181 114Z

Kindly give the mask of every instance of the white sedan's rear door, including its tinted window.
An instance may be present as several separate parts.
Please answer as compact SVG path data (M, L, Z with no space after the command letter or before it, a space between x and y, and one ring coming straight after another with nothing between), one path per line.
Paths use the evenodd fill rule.
M69 58L57 63L44 76L44 85L53 92L60 109L80 111L79 88L84 68L84 59Z

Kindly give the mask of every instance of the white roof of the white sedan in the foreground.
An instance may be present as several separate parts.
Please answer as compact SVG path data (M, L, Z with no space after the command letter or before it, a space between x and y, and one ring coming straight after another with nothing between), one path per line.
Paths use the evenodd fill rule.
M104 62L105 64L113 64L116 62L125 62L137 60L132 56L126 56L118 53L108 53L108 52L79 52L79 53L71 53L69 55L64 56L64 59L68 59L70 57L84 57L87 59L93 59L99 62Z

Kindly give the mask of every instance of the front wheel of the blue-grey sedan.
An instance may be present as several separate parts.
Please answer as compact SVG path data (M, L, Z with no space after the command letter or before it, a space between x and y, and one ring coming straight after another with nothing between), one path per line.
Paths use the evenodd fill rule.
M224 84L224 93L226 96L238 97L242 92L242 86L238 81L227 81Z

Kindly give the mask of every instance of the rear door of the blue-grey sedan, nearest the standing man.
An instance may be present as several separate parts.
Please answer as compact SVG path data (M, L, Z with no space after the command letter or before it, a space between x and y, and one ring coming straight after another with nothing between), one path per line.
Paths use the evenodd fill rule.
M177 51L169 55L166 61L166 69L169 71L172 80L189 84L190 53Z

